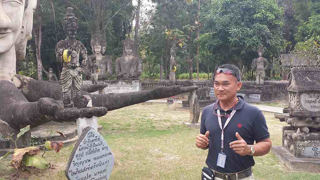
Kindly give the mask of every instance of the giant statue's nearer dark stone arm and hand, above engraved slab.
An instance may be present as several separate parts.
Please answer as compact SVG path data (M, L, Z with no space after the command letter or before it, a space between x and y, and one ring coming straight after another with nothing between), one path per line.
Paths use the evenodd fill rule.
M15 83L19 83L19 80L16 79ZM28 93L27 91L25 89L25 93ZM58 101L47 97L40 98L36 102L29 102L12 82L6 80L0 80L0 93L2 94L0 96L2 102L0 103L0 119L17 130L27 125L36 127L49 121L64 122L81 117L100 117L107 113L105 107L62 109Z

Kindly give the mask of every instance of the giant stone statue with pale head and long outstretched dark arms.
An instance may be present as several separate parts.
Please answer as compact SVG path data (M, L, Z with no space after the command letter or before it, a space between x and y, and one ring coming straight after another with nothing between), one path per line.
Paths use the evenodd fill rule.
M81 117L100 117L107 113L107 108L115 110L150 99L170 97L197 89L197 87L172 86L110 95L93 95L81 91L82 95L86 94L92 98L93 107L64 109L59 84L37 81L17 75L15 72L16 42L19 42L20 47L17 50L25 55L26 51L21 49L26 48L27 40L31 36L32 12L36 7L36 0L0 1L0 5L6 6L6 8L0 8L0 32L2 32L0 34L0 119L17 132L27 125L32 128L49 121L64 122ZM22 25L25 25L24 29L28 29L24 31L24 36L19 35ZM21 39L17 39L18 37ZM19 57L22 57L21 53L18 54ZM97 91L106 85L91 87Z

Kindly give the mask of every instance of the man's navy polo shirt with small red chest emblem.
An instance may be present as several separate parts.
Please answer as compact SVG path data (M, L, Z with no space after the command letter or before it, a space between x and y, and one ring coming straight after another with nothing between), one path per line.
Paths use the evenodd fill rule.
M221 129L218 122L218 117L213 114L215 103L206 106L201 115L200 133L205 134L209 131L209 152L206 164L221 173L236 173L243 171L251 166L254 166L253 157L250 155L241 156L230 148L229 143L238 140L236 132L244 139L247 144L253 144L254 141L259 142L270 137L266 119L261 110L256 106L248 104L242 96L237 96L239 101L235 105L236 113L233 115L227 127L224 129L224 149L223 152L227 155L225 168L217 166L218 153L221 152ZM230 114L230 110L224 111L218 104L214 110L220 109L220 114ZM227 118L221 117L222 128L226 123Z

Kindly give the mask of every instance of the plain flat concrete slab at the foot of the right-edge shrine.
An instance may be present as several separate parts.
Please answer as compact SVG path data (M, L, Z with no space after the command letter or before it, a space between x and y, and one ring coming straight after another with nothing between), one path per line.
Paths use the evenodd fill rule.
M272 146L271 152L292 171L320 172L320 159L296 158L281 146Z

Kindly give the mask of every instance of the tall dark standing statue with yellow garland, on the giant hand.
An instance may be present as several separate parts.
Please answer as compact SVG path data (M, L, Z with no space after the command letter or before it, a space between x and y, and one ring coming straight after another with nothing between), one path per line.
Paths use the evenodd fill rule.
M73 13L73 8L68 7L66 17L63 18L63 28L67 35L65 40L58 42L55 48L57 61L63 62L60 84L63 93L63 104L65 107L71 107L71 86L73 87L74 106L81 94L82 73L87 65L87 49L84 45L75 39L78 19ZM70 57L71 55L71 57ZM82 55L82 64L79 64L79 55Z

